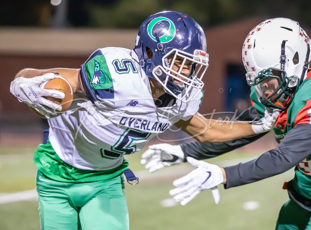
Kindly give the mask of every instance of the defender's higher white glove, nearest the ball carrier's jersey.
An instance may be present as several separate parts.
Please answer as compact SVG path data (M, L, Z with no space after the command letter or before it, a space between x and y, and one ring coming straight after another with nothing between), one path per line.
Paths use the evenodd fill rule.
M184 157L180 145L154 144L142 154L140 162L149 172L155 172L167 166L180 164Z

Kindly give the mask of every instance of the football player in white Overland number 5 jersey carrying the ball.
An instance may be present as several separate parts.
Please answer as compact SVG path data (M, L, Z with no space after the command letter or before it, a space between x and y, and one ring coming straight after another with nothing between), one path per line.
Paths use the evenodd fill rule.
M83 230L128 229L122 173L133 175L124 155L173 124L202 142L273 128L277 112L252 124L222 125L198 114L207 66L201 26L167 11L142 23L132 50L98 49L79 69L17 73L12 94L49 118L48 138L34 156L41 229L77 229L80 224ZM42 83L58 75L67 79L74 96L67 112L54 117L61 106L44 96L64 94Z

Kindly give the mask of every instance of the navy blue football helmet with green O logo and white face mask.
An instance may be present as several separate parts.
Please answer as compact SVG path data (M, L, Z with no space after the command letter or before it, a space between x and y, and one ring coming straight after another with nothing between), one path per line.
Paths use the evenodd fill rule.
M149 49L152 58L147 56ZM203 88L201 79L208 66L206 38L201 26L188 15L174 11L151 15L139 27L134 51L146 75L155 78L177 99L188 102ZM182 63L178 71L172 69L176 58ZM188 76L181 74L186 61L191 64ZM183 85L177 85L173 79Z

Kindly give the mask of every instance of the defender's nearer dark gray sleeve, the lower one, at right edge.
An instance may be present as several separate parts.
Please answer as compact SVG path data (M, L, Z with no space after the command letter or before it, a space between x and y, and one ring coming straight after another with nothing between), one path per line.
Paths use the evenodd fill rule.
M283 173L307 158L310 153L311 124L299 124L285 135L277 148L251 161L225 167L225 189Z

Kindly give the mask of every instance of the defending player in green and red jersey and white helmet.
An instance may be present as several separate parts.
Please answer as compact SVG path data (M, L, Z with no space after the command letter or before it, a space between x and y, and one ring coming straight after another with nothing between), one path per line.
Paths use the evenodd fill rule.
M278 147L252 161L220 168L193 157L210 158L224 153L226 149L230 151L243 146L262 134L214 145L196 142L181 148L159 144L144 153L142 162L147 163L150 171L156 171L168 166L162 160L164 157L172 158L170 153L179 156L179 162L188 156L188 162L197 168L174 181L177 188L170 191L174 199L183 205L200 190L210 189L221 183L228 189L280 174L296 166L293 180L284 184L290 199L281 208L276 229L311 229L309 36L296 21L272 18L250 31L242 52L246 79L252 86L253 106L259 114L262 114L264 106L282 110L274 128ZM250 116L251 110L254 109L248 109L242 116L255 117ZM163 145L168 151L163 149Z

